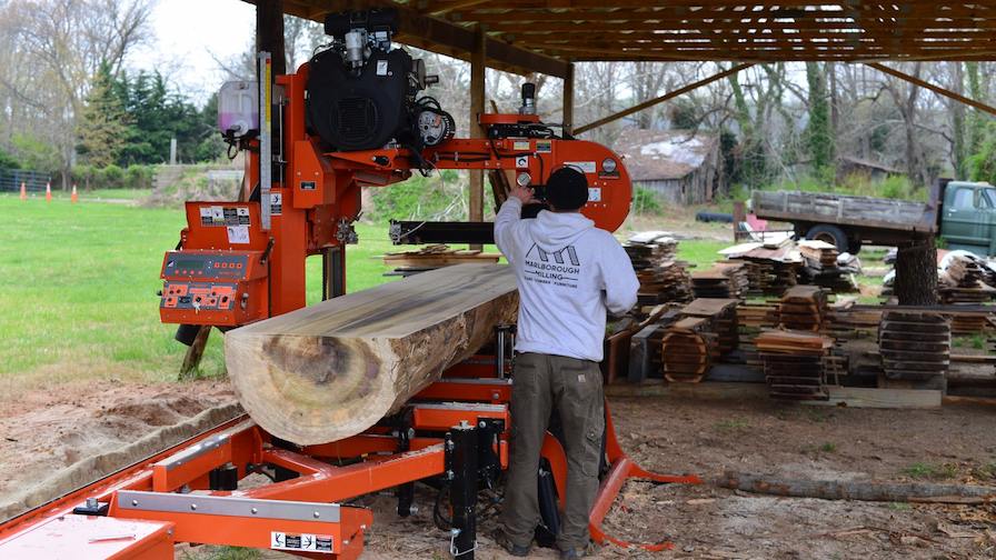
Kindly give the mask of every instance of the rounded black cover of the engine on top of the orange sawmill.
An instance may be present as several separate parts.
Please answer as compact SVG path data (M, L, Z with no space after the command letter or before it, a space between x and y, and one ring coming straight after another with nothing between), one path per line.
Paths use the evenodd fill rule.
M338 52L316 54L308 74L309 127L341 151L374 150L391 139L410 141L411 67L411 56L401 49L375 51L356 76Z

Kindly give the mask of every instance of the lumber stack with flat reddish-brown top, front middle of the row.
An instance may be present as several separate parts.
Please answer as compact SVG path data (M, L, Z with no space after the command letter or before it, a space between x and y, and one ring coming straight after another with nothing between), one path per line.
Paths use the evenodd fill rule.
M829 399L824 360L833 339L813 332L768 330L757 336L755 344L773 398Z

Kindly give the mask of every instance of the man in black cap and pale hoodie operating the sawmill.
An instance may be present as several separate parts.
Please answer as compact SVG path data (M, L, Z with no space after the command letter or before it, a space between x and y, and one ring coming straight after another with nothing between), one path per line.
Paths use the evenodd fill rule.
M585 556L588 514L598 491L605 431L601 361L606 310L636 304L639 282L626 251L580 213L588 182L565 167L547 181L550 210L520 219L532 202L516 188L495 218L495 241L516 270L519 321L511 397L511 459L504 531L496 538L512 556L529 554L539 522L539 452L551 410L564 428L567 496L557 548L560 558Z

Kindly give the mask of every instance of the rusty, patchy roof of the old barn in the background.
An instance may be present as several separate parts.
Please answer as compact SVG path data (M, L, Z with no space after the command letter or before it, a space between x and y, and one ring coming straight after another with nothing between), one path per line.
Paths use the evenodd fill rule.
M681 179L703 166L719 138L691 130L630 129L612 144L634 181Z

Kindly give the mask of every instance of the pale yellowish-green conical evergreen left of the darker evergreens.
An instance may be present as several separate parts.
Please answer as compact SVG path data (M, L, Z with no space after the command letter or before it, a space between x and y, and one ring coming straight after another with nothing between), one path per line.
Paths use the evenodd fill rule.
M121 100L114 91L111 67L107 62L97 70L77 129L77 151L86 158L87 163L104 168L118 161L118 154L124 146L128 121Z

